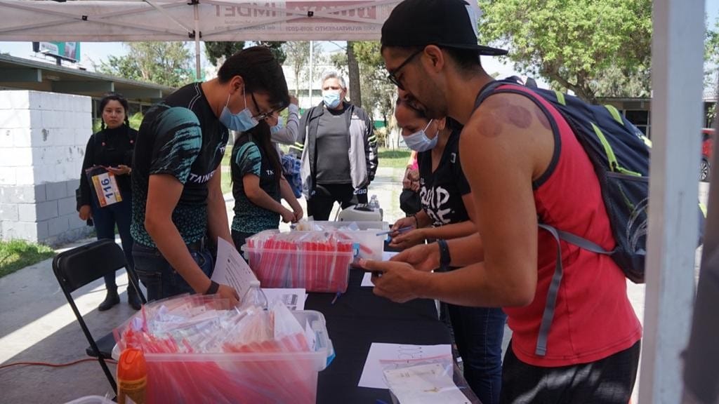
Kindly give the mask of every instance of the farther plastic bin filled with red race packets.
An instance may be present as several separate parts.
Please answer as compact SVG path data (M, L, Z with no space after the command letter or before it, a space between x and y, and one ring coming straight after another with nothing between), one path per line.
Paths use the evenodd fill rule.
M249 237L243 249L263 288L344 293L354 244L338 231L267 230Z

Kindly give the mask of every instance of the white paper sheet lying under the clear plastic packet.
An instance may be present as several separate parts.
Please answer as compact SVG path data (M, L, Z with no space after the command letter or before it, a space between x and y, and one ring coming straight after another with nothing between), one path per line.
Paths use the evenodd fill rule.
M380 360L396 361L442 356L452 357L451 345L383 344L373 342L372 346L370 346L370 353L367 354L365 369L362 369L362 376L359 377L359 387L388 388L383 378L383 367Z

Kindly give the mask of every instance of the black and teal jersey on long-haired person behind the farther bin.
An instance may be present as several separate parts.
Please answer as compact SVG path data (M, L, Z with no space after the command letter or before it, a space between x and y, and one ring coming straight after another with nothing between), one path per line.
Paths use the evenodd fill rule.
M280 226L280 214L255 205L244 192L242 179L245 175L257 175L260 188L275 201L280 201L280 183L270 158L249 134L242 134L232 147L232 195L234 196L234 219L232 230L241 233L257 233Z

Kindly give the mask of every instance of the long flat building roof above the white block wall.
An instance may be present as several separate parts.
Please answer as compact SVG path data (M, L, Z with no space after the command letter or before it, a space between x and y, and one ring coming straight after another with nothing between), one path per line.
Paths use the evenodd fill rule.
M129 101L152 104L175 88L88 72L35 60L0 55L0 88L51 91L101 98L121 93Z

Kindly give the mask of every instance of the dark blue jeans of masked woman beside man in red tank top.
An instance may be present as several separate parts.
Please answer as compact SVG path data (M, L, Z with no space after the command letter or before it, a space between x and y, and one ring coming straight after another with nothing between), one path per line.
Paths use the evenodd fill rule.
M464 379L483 404L499 403L502 339L507 316L500 308L449 306Z

